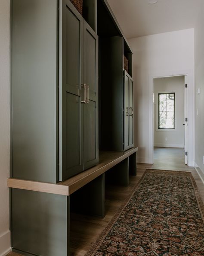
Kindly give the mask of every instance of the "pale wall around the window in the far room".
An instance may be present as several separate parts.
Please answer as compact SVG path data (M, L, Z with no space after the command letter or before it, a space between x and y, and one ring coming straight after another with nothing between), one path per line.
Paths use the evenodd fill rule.
M184 83L184 76L154 79L155 147L184 147ZM175 129L173 130L158 130L158 93L175 93Z

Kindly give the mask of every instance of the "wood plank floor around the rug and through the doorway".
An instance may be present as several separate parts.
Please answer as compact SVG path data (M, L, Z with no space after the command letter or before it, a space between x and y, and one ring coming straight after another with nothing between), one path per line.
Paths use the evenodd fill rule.
M106 227L127 195L139 182L145 169L190 171L197 183L204 201L204 184L196 170L184 163L184 150L181 148L160 148L154 150L154 164L137 164L137 176L130 177L130 186L106 186L105 188L105 218L93 218L80 214L71 214L71 256L83 256L91 244ZM9 253L8 256L19 256Z

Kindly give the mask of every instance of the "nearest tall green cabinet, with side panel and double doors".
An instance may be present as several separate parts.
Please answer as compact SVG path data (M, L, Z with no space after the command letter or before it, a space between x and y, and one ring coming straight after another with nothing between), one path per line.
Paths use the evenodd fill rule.
M96 1L12 0L12 177L56 183L98 163ZM90 7L90 10L88 9Z

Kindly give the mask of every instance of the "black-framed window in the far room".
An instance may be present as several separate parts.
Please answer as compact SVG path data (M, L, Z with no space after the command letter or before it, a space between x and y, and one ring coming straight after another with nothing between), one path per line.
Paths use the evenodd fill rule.
M158 129L175 129L175 93L159 93Z

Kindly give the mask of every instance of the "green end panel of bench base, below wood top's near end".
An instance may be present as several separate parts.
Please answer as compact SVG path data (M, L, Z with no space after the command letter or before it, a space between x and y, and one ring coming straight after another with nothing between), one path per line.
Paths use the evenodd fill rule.
M12 189L12 247L21 254L69 255L69 197Z

